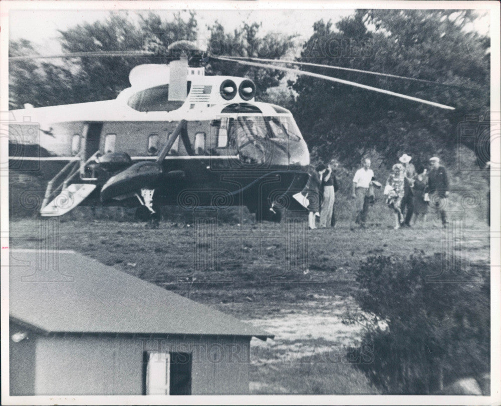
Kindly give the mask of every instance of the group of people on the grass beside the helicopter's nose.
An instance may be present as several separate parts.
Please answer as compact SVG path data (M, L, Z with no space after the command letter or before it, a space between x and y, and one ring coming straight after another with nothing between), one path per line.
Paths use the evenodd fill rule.
M394 229L411 227L418 219L426 220L428 208L432 207L440 214L442 225L447 224L446 204L449 194L447 172L440 165L436 156L429 159L429 170L423 165L416 169L411 163L412 157L403 154L399 162L392 166L386 181L384 195L386 204L394 213ZM316 218L320 217L320 228L334 227L335 194L339 189L336 178L338 163L332 159L327 165L319 164L311 170L307 185L309 199L309 228L316 229ZM371 160L364 158L362 167L355 172L352 182L353 211L350 216L350 229L355 224L364 228L369 207L375 200L375 189L381 188L371 169ZM320 192L320 193L319 193Z

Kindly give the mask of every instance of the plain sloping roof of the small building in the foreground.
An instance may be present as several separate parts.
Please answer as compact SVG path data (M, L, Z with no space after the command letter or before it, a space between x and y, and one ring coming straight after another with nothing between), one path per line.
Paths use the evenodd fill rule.
M274 337L73 251L10 251L10 316L46 333Z

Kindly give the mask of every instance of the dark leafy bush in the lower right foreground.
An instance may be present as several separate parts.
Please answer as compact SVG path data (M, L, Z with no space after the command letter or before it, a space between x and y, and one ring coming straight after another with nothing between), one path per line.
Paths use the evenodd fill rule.
M431 393L490 369L488 270L450 282L465 271L452 265L441 274L442 267L441 255L374 256L357 272L356 300L368 315L363 344L374 353L357 367L384 392ZM430 278L439 274L446 281Z

